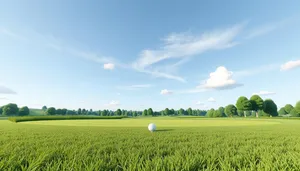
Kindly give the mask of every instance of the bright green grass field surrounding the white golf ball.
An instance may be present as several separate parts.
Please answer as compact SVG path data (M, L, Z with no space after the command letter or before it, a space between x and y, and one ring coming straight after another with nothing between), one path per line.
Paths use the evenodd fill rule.
M299 130L288 119L0 120L0 170L300 170Z

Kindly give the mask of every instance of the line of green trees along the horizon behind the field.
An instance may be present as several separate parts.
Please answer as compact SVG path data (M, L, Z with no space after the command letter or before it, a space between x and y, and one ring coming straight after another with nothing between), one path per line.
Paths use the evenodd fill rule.
M248 99L241 96L237 99L236 104L229 104L225 108L199 110L199 109L183 109L179 110L165 108L162 111L153 111L152 108L143 111L133 110L98 110L79 108L77 110L69 110L66 108L56 109L54 107L43 106L42 110L46 115L97 115L97 116L206 116L206 117L259 117L259 116L292 116L300 117L300 101L295 104L286 104L284 107L277 109L276 103L272 99L263 100L259 95L253 95ZM30 114L27 106L19 108L16 104L10 103L0 107L0 115L4 116L26 116Z

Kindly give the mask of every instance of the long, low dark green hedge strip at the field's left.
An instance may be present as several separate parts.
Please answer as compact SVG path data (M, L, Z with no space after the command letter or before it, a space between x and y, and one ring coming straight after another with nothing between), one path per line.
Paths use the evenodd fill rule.
M122 119L124 116L24 116L10 117L12 122L45 121L45 120L81 120L81 119Z

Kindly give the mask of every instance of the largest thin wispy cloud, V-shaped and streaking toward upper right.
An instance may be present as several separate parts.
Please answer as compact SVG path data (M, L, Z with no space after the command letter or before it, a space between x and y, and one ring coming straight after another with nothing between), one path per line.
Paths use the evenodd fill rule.
M235 41L235 38L242 27L243 24L240 24L223 30L207 32L202 35L172 33L164 39L164 44L159 49L143 50L132 66L139 72L148 73L155 77L163 77L184 82L185 80L180 76L164 73L155 68L153 69L153 67L150 66L171 58L189 58L209 50L220 50L233 47L238 44L238 42ZM174 65L177 66L184 62L186 61L181 60Z

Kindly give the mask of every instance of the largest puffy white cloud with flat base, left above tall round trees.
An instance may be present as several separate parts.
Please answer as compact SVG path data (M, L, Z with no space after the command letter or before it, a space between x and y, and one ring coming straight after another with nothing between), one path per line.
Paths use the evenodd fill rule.
M204 81L204 84L198 86L198 88L222 90L242 86L242 84L238 84L232 79L232 75L231 71L228 71L224 66L220 66L215 72L210 73L209 78Z

